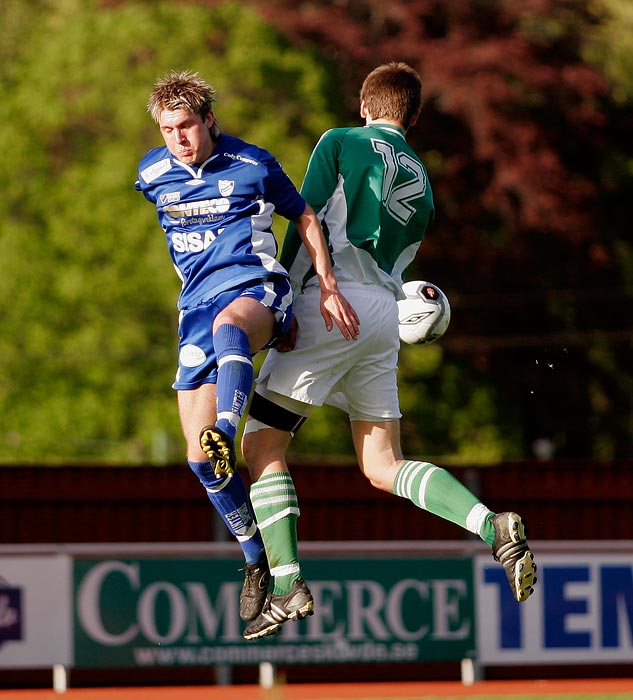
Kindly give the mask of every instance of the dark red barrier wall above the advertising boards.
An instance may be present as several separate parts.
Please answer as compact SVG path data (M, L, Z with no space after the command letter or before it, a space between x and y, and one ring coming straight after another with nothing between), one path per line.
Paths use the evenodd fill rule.
M303 540L461 539L463 531L373 488L353 465L291 466ZM633 461L452 469L531 539L633 539ZM0 467L0 543L196 542L214 511L186 465Z

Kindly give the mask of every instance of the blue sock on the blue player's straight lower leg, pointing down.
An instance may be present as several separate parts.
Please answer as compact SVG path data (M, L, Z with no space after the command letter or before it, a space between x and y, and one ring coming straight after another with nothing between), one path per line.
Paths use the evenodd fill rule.
M257 564L264 556L264 543L248 500L246 484L239 472L218 479L210 462L190 461L189 467L207 490L209 500L230 533L237 538L246 563Z

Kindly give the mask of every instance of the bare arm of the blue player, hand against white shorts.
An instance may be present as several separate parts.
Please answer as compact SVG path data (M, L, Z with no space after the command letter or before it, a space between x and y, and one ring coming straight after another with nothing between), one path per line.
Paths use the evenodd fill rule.
M321 316L331 331L334 323L347 340L358 337L359 319L352 305L341 294L332 270L330 253L314 209L306 204L303 214L293 223L305 245L321 287Z

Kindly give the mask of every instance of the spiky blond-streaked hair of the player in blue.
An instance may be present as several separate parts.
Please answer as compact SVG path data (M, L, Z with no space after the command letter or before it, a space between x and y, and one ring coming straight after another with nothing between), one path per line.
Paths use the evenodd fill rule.
M215 88L197 73L171 71L154 84L147 102L147 111L156 123L161 112L166 109L185 109L206 119L213 112L214 102ZM216 120L211 127L211 136L217 139L219 135L220 125Z

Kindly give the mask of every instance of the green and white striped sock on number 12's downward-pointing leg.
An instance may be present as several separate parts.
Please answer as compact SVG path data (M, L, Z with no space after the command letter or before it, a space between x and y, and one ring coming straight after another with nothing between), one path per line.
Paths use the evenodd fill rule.
M251 486L251 502L264 540L275 595L290 593L300 578L297 554L297 492L288 472L260 477Z

